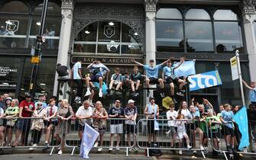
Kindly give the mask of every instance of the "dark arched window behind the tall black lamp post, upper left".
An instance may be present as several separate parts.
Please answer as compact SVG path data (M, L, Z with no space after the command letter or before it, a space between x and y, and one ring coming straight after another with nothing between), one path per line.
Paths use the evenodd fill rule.
M31 31L30 31L30 46L36 43L36 35L39 34L41 26L41 13L43 4L37 5L32 11ZM44 26L44 36L46 42L43 43L44 49L57 49L60 40L60 27L61 27L61 8L53 2L48 3L47 18Z

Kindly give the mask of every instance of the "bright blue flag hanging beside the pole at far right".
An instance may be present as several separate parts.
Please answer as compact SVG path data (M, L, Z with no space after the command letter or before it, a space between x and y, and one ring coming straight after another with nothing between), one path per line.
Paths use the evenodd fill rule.
M246 107L242 107L241 110L238 110L238 112L233 117L233 120L235 120L235 123L238 124L238 129L241 133L241 140L238 149L242 151L244 147L250 145Z

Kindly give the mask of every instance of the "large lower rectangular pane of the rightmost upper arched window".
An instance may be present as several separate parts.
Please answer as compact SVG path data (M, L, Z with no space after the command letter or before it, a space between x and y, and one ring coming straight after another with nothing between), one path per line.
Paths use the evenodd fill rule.
M234 53L243 49L238 22L215 22L214 27L217 53Z

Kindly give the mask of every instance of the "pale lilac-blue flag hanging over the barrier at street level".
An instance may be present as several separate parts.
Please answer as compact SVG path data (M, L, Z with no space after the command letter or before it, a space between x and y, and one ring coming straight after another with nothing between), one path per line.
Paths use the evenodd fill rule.
M91 126L85 123L83 131L83 139L80 148L80 157L89 158L89 152L92 149L94 142L96 141L99 133L94 130Z

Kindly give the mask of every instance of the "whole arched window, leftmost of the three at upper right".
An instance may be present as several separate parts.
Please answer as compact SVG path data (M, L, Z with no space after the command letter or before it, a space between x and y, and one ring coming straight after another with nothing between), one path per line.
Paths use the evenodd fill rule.
M160 8L156 21L157 51L184 52L183 16L177 8Z

